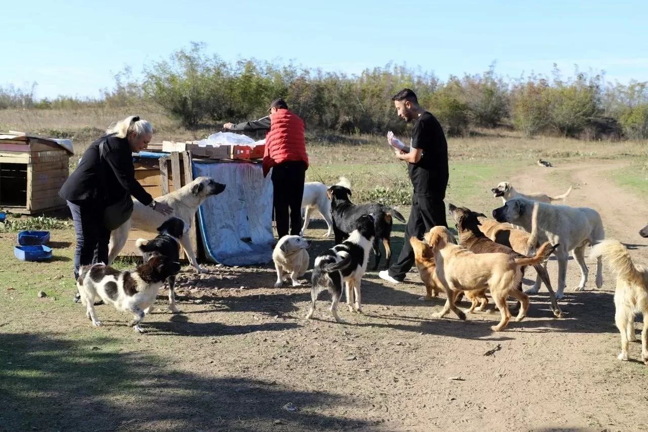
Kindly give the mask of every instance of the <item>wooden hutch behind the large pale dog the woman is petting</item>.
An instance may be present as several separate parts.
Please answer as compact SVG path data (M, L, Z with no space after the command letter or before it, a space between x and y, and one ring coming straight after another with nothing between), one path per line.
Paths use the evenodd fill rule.
M158 159L140 158L135 162L135 179L154 198L167 195L170 191L179 189L194 180L191 169L191 152L172 152L168 156ZM177 187L176 187L177 186ZM189 231L191 247L198 255L198 222L197 218L192 221ZM152 239L157 233L150 233L141 230L130 230L128 241L122 249L120 256L139 256L135 249L137 239ZM181 259L187 259L182 249Z

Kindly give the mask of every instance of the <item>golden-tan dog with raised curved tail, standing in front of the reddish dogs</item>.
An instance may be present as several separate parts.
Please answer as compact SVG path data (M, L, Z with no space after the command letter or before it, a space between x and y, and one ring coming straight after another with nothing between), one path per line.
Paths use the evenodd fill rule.
M491 296L500 309L502 318L498 325L491 330L500 331L506 328L511 320L511 311L506 302L507 296L520 300L520 312L516 321L526 317L529 308L529 297L518 291L522 274L519 268L523 265L541 263L553 251L549 242L540 246L533 258L512 258L507 254L474 254L469 250L445 241L448 228L435 226L430 232L430 246L434 251L436 273L443 285L447 300L443 310L433 315L443 318L453 311L461 320L466 319L465 313L454 304L454 293L459 290L478 291L485 288L491 290Z

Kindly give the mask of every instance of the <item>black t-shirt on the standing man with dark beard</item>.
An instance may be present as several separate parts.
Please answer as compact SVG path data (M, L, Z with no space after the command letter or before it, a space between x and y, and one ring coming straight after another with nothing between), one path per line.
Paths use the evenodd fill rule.
M414 123L411 147L423 152L419 162L408 163L414 195L445 195L448 186L448 143L443 128L434 115L426 111Z

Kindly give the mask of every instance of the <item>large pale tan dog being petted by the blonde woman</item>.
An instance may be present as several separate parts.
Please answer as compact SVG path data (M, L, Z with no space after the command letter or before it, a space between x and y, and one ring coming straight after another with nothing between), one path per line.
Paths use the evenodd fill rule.
M211 177L198 177L191 183L181 187L177 191L172 191L156 198L157 202L164 202L173 209L171 215L163 215L152 208L141 204L137 200L133 200L133 214L128 221L124 222L122 226L114 230L110 234L110 246L108 246L108 265L111 265L115 258L119 255L126 240L128 240L128 231L131 228L157 234L157 227L161 226L169 217L175 216L182 219L187 226L193 226L194 219L196 219L196 211L198 206L202 204L207 198L218 195L225 190L225 185L216 182ZM185 250L187 258L191 265L196 267L200 273L205 273L207 270L198 265L196 260L196 253L191 247L189 235L183 235L180 239L180 245Z

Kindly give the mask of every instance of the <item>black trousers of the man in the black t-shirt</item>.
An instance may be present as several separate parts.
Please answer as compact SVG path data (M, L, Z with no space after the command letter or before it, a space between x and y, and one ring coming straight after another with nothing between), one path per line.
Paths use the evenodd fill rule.
M412 198L410 219L405 227L403 248L400 250L399 259L389 267L389 276L395 280L403 280L414 265L414 251L410 245L410 237L423 239L426 232L433 226L448 226L445 214L445 194L437 197Z

